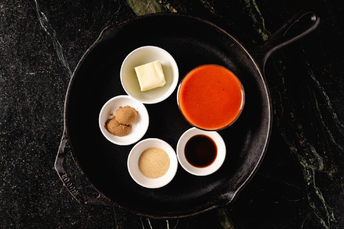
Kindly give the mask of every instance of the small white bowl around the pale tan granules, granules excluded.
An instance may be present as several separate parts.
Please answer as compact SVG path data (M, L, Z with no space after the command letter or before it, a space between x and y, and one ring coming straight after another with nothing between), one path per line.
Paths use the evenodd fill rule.
M159 147L166 151L170 158L170 167L165 175L151 179L144 176L139 168L141 153L149 147ZM178 159L174 149L165 141L158 138L147 138L138 142L130 151L128 156L128 171L131 178L139 185L146 188L160 188L170 183L178 168Z

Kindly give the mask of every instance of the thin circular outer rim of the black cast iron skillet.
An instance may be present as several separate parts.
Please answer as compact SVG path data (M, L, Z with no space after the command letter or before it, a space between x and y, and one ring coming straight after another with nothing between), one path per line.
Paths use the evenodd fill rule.
M83 64L84 60L86 59L86 57L88 56L88 54L93 50L93 48L101 41L101 39L103 38L104 34L106 31L108 31L110 28L113 28L113 27L117 27L117 26L122 26L122 25L125 25L125 24L129 24L131 22L134 22L134 21L140 21L141 19L144 19L144 18L149 18L149 17L155 17L155 16L175 16L175 17L183 17L183 18L189 18L189 19L194 19L194 20L197 20L197 21L201 21L203 23L206 23L208 25L211 25L213 27L215 27L217 30L219 30L220 32L223 32L224 34L226 34L227 36L229 36L231 39L233 39L233 41L235 43L238 44L238 46L244 51L244 53L249 57L249 59L251 60L251 62L254 64L254 66L256 67L256 70L257 72L259 73L259 76L263 82L263 85L264 85L264 89L265 89L265 93L266 93L266 98L267 98L267 105L268 105L268 113L269 113L269 120L268 120L268 131L267 131L267 136L266 136L266 140L265 140L265 143L264 143L264 147L263 147L263 150L261 151L261 154L260 154L260 157L255 165L255 167L253 168L253 170L251 171L251 173L248 175L248 177L246 178L246 180L236 189L236 191L233 193L233 197L230 198L227 202L225 203L214 203L211 207L208 207L206 209L203 209L203 210L197 210L197 211L194 211L192 213L186 213L186 214L174 214L175 211L165 211L165 213L167 214L164 214L164 215L159 215L159 216L154 216L154 215L150 215L150 214L147 214L147 213L142 213L140 211L137 211L137 210L133 210L133 209L130 209L126 206L122 206L114 201L112 201L109 197L107 197L106 195L103 194L103 192L100 192L98 190L98 188L96 188L92 182L90 181L90 179L88 178L88 176L86 175L86 173L83 171L83 169L81 168L81 165L74 153L74 150L73 150L73 145L72 145L72 142L71 142L71 139L69 137L69 134L68 134L68 126L67 126L67 107L68 107L68 100L69 100L69 94L70 94L70 91L71 91L71 87L73 85L73 82L74 82L74 79L75 79L75 76L77 75L77 72L80 68L80 66ZM271 98L270 98L270 92L269 92L269 89L267 87L267 83L266 83L266 80L265 80L265 77L262 75L262 71L264 71L264 69L260 69L258 67L258 64L256 62L256 60L254 60L254 58L252 57L252 55L248 52L248 50L235 38L233 37L232 35L230 35L227 31L225 31L223 28L217 26L216 24L210 22L210 21L207 21L205 19L201 19L201 18L198 18L198 17L195 17L195 16L190 16L190 15L185 15L185 14L178 14L178 13L153 13L153 14L145 14L145 15L141 15L141 16L137 16L135 18L130 18L124 22L121 22L121 23L111 23L107 26L105 26L103 28L103 30L100 32L100 35L98 36L98 38L96 39L96 41L85 51L85 53L83 54L83 56L80 58L78 64L76 65L74 71L73 71L73 74L71 76L71 79L69 80L69 83L68 83L68 87L67 87L67 91L66 91L66 97L65 97L65 103L64 103L64 121L63 121L63 125L64 125L64 134L66 135L68 141L69 141L69 145L71 147L71 154L72 154L72 158L74 160L74 162L76 163L76 166L78 167L79 171L82 173L82 175L84 176L84 178L92 185L92 187L102 196L104 196L111 204L113 204L114 206L117 206L117 207L120 207L122 209L126 209L128 211L130 211L131 213L134 213L136 215L140 215L140 216L146 216L146 217L151 217L151 218L155 218L155 219L165 219L165 218L169 218L169 219L172 219L172 218L183 218L183 217L189 217L189 216L194 216L194 215L197 215L197 214L201 214L201 213L205 213L206 211L209 211L209 210L212 210L212 209L215 209L217 207L220 207L220 206L225 206L225 205L228 205L230 203L232 203L237 195L239 194L239 192L245 187L245 185L247 185L247 183L252 179L253 175L257 172L261 162L262 162L262 159L264 158L265 156L265 153L266 153L266 150L267 150L267 146L269 144L269 140L270 140L270 135L271 135L271 127L272 127L272 110L271 110ZM224 195L226 195L227 193L224 193ZM227 198L227 197L225 197ZM219 202L219 201L217 201ZM190 210L189 210L190 212ZM168 213L172 213L172 215L169 215Z

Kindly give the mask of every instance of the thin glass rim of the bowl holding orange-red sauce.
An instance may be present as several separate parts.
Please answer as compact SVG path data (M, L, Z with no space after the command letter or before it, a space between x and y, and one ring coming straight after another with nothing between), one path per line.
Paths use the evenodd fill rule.
M228 125L226 126L223 126L223 127L220 127L220 128L217 128L217 129L205 129L205 128L202 128L202 127L199 127L197 125L195 125L194 123L192 123L189 119L187 119L185 117L185 115L183 114L182 112L182 109L180 108L180 103L179 103L179 92L180 92L180 88L181 88L181 85L183 84L184 80L186 79L186 77L191 73L193 72L194 70L196 70L197 68L200 68L200 67L203 67L203 66L217 66L217 67L221 67L221 68L224 68L226 69L227 71L231 72L233 74L233 76L238 80L239 84L240 84L240 88L241 88L241 91L243 92L242 93L242 96L241 96L241 105L240 105L240 109L239 109L239 112L237 114L237 116L233 119L232 122L230 122ZM179 111L180 113L182 114L183 118L186 120L186 122L188 122L191 126L193 127L196 127L198 129L201 129L201 130L205 130L205 131L218 131L218 130L223 130L225 128L227 128L228 126L232 125L233 123L235 123L235 121L237 121L237 119L239 118L239 116L241 115L241 112L243 112L244 110L244 105L245 105L245 90L244 90L244 86L243 84L241 83L240 79L234 74L233 71L229 70L228 68L224 67L224 66L221 66L221 65L216 65L216 64L205 64L205 65L198 65L196 66L195 68L191 69L190 71L188 71L185 76L183 77L183 79L180 81L179 85L178 85L178 90L177 90L177 105L178 105L178 108L179 108Z

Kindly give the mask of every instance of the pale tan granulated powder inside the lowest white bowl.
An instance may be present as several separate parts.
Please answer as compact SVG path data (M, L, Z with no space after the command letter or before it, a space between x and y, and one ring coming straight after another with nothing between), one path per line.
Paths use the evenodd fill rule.
M141 173L147 178L159 178L170 168L170 158L165 150L150 147L144 150L139 159Z

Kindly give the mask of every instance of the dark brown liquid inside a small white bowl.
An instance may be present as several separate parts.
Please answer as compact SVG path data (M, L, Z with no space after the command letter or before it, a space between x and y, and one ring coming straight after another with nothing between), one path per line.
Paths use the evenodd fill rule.
M211 137L199 134L186 142L184 153L187 162L194 167L204 168L215 161L217 146Z

